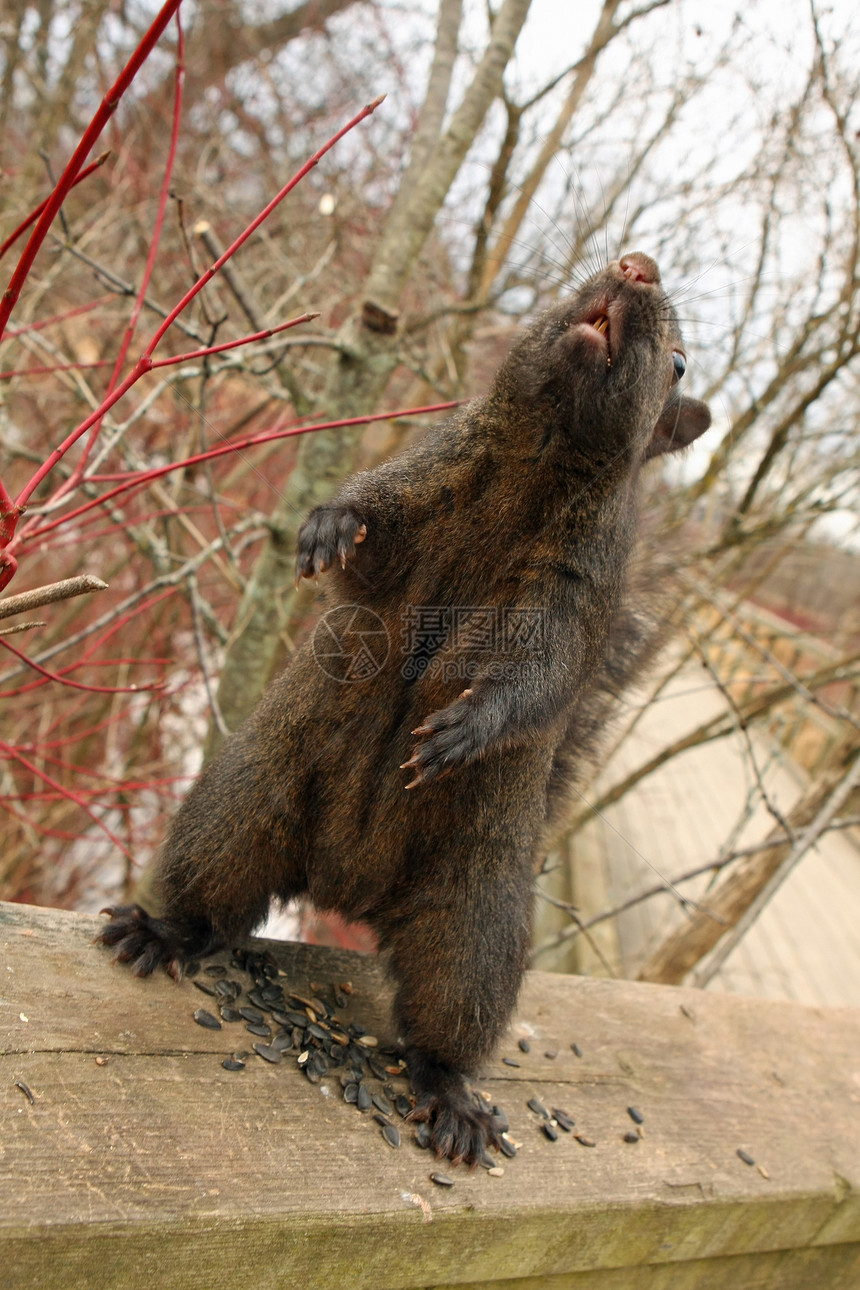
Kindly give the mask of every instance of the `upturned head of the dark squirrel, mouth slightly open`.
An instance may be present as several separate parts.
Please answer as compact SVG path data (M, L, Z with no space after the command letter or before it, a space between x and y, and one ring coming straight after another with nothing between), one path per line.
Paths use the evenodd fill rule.
M686 448L710 424L681 393L678 319L650 257L623 255L543 313L514 343L490 399L514 432L634 464Z

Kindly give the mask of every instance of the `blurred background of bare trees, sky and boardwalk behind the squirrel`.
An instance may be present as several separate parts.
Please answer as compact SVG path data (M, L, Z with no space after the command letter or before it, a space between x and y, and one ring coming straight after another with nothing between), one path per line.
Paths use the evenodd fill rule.
M387 97L179 315L159 356L188 357L139 381L30 499L6 596L77 574L108 590L23 618L0 599L0 898L129 894L202 757L313 623L312 588L293 591L311 506L441 415L420 409L481 393L542 306L643 250L714 426L649 476L663 648L547 858L535 965L855 1002L856 6L178 13L182 43L174 21L143 61L9 320L13 498L290 175ZM6 0L4 283L155 15ZM366 944L307 911L280 928Z

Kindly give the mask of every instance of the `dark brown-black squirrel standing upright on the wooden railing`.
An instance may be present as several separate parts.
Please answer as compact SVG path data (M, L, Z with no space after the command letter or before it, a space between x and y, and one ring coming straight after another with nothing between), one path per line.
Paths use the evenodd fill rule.
M624 680L641 468L710 423L685 365L658 266L624 255L485 397L312 511L298 577L326 574L329 613L179 809L162 916L106 911L99 939L141 975L242 940L272 898L370 924L411 1118L454 1162L498 1146L464 1075L513 1010L592 695Z

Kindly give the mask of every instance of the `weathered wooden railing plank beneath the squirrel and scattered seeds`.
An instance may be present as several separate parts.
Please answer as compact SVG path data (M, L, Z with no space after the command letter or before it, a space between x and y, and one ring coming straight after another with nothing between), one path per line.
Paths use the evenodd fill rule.
M749 1271L736 1285L794 1290L798 1267L808 1285L856 1284L845 1280L860 1251L854 1010L533 973L480 1080L520 1153L503 1176L458 1169L442 1191L427 1153L391 1149L337 1078L315 1087L290 1059L224 1071L251 1036L196 1026L208 1001L191 982L111 969L90 943L98 926L0 906L0 1254L14 1290L499 1277L508 1290L517 1277L714 1290L726 1259ZM349 1015L391 1038L375 958L268 948L289 988L349 978ZM597 1146L548 1142L526 1107L535 1095ZM628 1106L645 1115L636 1144L623 1140ZM780 1262L794 1280L774 1280Z

